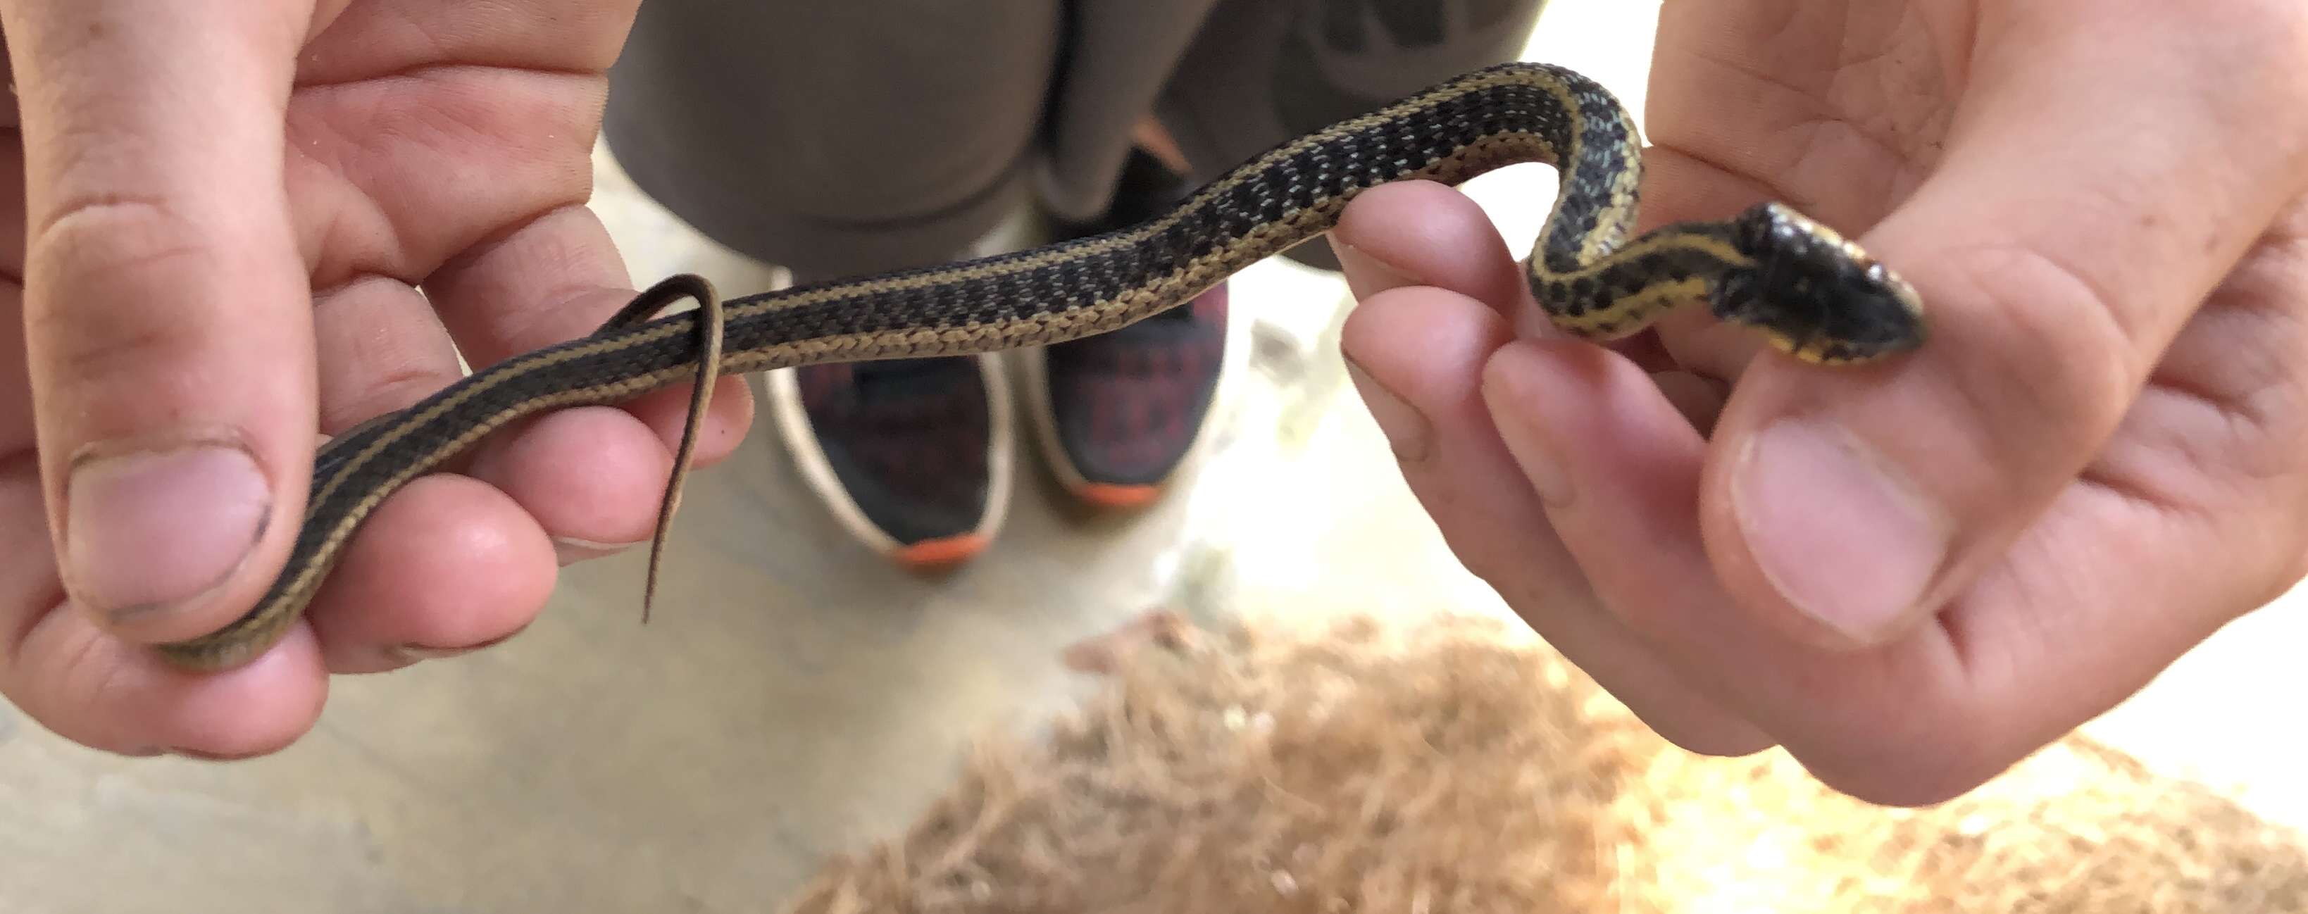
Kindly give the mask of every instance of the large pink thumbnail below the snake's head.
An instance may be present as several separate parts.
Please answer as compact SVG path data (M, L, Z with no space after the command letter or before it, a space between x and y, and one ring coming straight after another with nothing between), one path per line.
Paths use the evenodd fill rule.
M1948 519L1872 448L1819 420L1754 436L1731 510L1770 586L1863 644L1906 616L1948 554Z

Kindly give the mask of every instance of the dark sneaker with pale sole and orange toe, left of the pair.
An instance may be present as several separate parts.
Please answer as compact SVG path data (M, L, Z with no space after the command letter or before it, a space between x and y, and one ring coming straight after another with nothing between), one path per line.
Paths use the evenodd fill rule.
M992 542L1018 436L992 355L810 365L766 388L803 480L861 542L923 572Z

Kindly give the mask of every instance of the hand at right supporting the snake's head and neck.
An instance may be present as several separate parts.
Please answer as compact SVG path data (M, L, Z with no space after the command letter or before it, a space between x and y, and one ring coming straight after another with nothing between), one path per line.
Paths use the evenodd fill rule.
M1646 228L1789 201L1929 342L1572 342L1438 185L1332 238L1412 492L1659 734L1932 803L2308 572L2308 9L1666 0L1648 122Z

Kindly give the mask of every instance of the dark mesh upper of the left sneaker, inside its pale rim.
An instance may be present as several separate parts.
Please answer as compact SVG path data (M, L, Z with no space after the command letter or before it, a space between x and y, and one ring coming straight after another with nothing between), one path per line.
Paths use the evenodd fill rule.
M796 381L833 475L875 526L902 545L979 529L992 485L979 360L812 365Z

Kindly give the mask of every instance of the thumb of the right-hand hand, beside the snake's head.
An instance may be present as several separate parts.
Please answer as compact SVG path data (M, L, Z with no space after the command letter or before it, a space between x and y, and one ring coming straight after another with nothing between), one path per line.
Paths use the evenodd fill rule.
M2250 65L2296 72L2296 51L2121 7L1980 25L1996 39L1939 171L1865 238L1923 291L1929 344L1858 372L1773 358L1731 397L1706 531L1773 623L1883 644L1973 582L2301 192L2308 92ZM2294 21L2264 35L2308 32L2260 7Z

